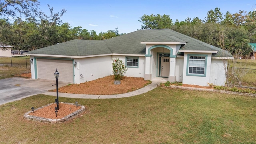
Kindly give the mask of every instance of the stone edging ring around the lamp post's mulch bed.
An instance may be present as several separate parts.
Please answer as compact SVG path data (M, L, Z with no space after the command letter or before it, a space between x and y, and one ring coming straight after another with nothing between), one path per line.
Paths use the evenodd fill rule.
M68 102L60 102L60 103L76 105L76 104L68 103ZM56 103L51 103L51 104L56 104ZM50 106L51 104L47 104L45 106L41 106L39 108L36 108L34 111L39 110L41 108L44 108L46 106ZM67 120L70 120L70 119L74 118L75 116L78 116L78 114L81 114L82 112L84 112L85 107L83 105L80 105L80 104L78 104L78 106L81 106L81 108L79 110L76 110L75 112L72 112L71 114L69 114L67 116L64 116L63 118L51 119L51 118L43 118L43 117L39 117L39 116L29 115L32 111L26 112L24 114L24 118L28 119L28 120L35 120L35 121L38 121L38 122L61 123L61 122L65 122Z

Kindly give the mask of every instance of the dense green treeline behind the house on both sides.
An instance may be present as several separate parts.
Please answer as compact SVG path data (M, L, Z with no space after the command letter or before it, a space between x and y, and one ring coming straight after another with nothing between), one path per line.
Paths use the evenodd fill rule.
M38 9L37 0L4 0L0 2L0 42L14 46L15 50L35 50L73 39L105 40L119 34L118 28L107 32L90 32L81 26L72 28L62 22L65 9L50 15ZM255 6L254 6L255 7ZM250 12L242 11L222 14L220 8L208 11L206 18L187 17L184 21L172 21L169 15L143 15L139 22L141 29L170 28L208 44L225 47L234 53L250 54L248 43L256 43L256 8ZM26 19L20 18L21 16ZM13 22L7 19L12 16ZM139 29L139 28L138 28Z

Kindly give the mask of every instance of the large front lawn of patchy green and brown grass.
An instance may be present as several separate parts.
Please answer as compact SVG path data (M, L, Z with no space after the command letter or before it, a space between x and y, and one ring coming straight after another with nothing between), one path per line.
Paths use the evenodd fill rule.
M36 95L0 106L0 143L177 144L255 143L256 97L158 87L119 99L62 98L86 111L47 124L26 120L31 107L54 102Z

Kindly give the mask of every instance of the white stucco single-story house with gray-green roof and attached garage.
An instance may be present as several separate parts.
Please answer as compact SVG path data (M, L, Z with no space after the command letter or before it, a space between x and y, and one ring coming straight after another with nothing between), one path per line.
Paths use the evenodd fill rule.
M138 30L107 40L70 40L26 53L32 78L80 84L112 75L112 59L122 60L125 76L168 78L170 82L225 84L224 59L233 59L225 50L170 29ZM75 63L75 64L74 64Z

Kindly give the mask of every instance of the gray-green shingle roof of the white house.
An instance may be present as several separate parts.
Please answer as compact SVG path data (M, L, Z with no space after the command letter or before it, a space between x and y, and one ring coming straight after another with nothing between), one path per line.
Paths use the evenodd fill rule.
M214 56L223 56L223 50L170 29L137 30L107 40L70 40L28 54L89 56L96 54L145 54L146 44L140 42L186 42L181 50L218 50ZM232 57L229 52L227 57Z

